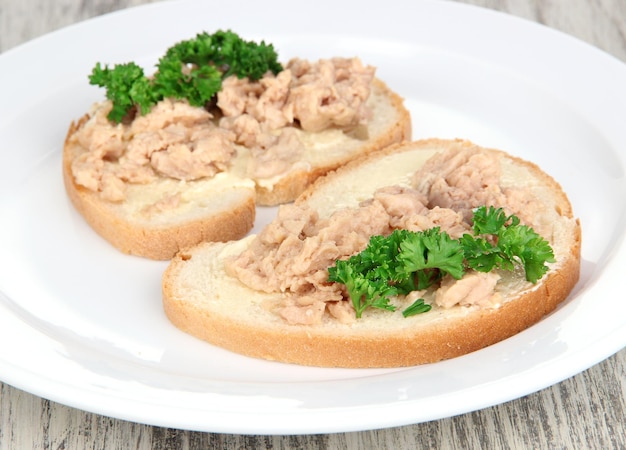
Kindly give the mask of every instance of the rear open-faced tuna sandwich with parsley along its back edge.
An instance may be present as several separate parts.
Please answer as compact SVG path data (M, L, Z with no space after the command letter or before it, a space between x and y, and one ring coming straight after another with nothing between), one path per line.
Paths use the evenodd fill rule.
M169 259L243 237L255 204L292 201L313 180L410 139L403 100L358 58L292 59L230 31L167 50L154 75L96 64L107 99L72 123L66 191L119 250Z

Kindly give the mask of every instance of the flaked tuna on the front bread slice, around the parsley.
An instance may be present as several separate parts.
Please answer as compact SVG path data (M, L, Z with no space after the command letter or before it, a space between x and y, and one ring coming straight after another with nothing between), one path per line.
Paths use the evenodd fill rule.
M502 207L537 229L529 218L540 205L524 193L523 187L501 185L499 156L473 149L444 151L415 173L412 185L380 188L358 207L328 218L307 206L281 206L276 219L229 260L227 271L255 290L287 294L278 313L288 323L315 324L324 315L349 323L355 312L343 285L327 281L337 259L363 250L372 235L394 229L440 227L458 238L471 229L472 209L483 205ZM436 291L420 295L440 308L497 308L499 279L498 272L469 271L460 280L447 276Z

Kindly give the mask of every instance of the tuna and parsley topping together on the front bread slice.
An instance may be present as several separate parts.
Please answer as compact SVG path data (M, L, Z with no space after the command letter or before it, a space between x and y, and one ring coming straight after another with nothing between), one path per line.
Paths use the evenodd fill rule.
M370 307L405 316L435 306L497 308L502 271L536 282L554 261L531 228L540 205L500 179L497 155L444 151L415 173L413 186L379 189L328 218L281 206L227 270L255 290L284 293L277 312L291 324L326 314L350 323Z

